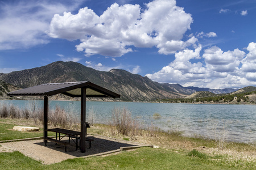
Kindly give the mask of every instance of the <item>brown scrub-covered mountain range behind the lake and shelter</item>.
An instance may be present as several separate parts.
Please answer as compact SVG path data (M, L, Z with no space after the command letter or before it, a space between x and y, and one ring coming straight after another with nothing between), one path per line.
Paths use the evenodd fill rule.
M57 61L46 66L36 67L8 74L0 74L0 80L20 88L43 83L90 81L121 95L123 101L151 101L155 99L176 99L193 94L196 91L209 91L214 94L226 94L237 89L209 89L183 87L180 84L158 83L147 76L132 74L121 69L98 71L77 62Z

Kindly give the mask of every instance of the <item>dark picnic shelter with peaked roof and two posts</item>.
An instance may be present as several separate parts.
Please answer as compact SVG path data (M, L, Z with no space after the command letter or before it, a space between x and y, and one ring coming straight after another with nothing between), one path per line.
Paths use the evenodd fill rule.
M39 86L28 87L22 90L9 92L9 96L43 96L44 115L43 115L43 134L44 142L48 139L48 97L57 94L64 94L71 97L81 97L81 131L80 131L80 151L85 152L86 141L86 97L112 97L118 98L119 94L109 91L104 87L98 86L89 81L87 82L67 82L67 83L48 83Z

